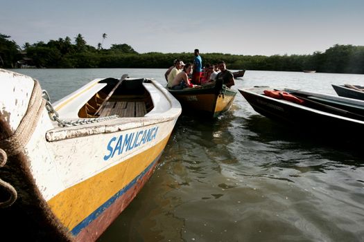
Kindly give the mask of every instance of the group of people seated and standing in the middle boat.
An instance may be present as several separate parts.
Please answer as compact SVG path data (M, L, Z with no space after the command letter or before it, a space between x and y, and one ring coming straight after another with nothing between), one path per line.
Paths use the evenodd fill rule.
M168 89L182 90L184 88L193 88L218 79L222 79L228 88L235 84L234 75L231 71L227 70L225 62L220 61L218 64L207 64L202 68L200 51L196 49L194 54L193 64L184 64L182 60L175 59L173 66L168 68L164 74L168 82Z

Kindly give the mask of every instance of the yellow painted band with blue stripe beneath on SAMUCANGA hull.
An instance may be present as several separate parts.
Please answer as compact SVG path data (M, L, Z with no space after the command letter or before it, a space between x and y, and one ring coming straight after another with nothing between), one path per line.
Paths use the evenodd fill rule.
M152 148L65 189L48 201L53 213L64 225L68 225L74 235L78 234L114 203L114 196L127 192L133 180L148 170L150 164L162 153L168 138L169 136ZM110 191L115 191L112 196ZM64 206L65 203L68 208Z

